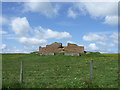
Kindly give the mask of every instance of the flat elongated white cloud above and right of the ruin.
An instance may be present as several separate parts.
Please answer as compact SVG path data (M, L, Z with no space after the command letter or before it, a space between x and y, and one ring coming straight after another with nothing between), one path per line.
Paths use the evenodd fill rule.
M103 41L103 40L106 40L106 37L95 34L95 33L89 33L83 36L83 40L84 41Z

